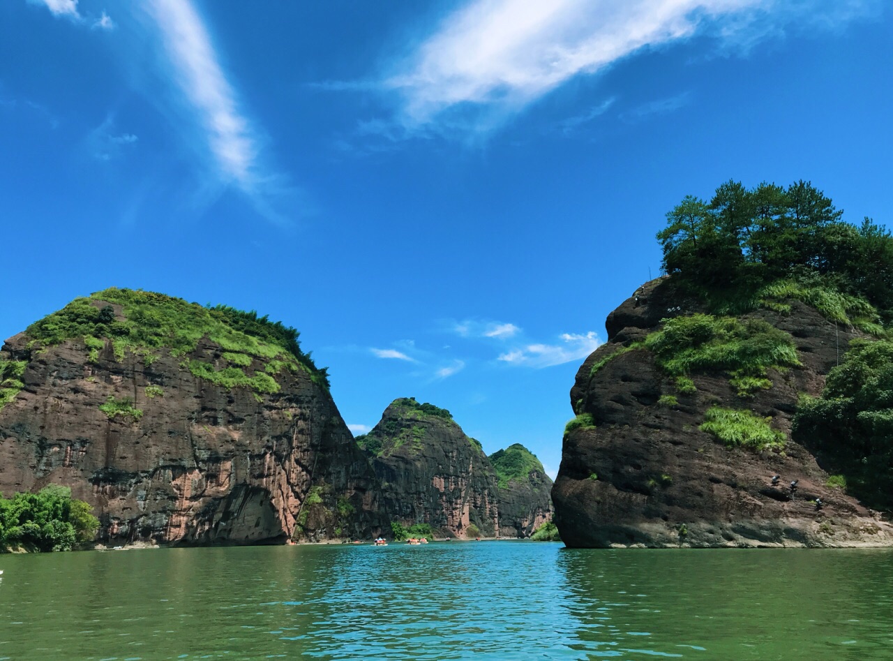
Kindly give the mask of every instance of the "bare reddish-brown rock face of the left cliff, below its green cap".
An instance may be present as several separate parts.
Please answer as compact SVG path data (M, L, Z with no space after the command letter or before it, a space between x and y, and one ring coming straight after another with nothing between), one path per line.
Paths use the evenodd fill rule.
M35 352L27 341L0 351L29 360L24 389L0 409L5 495L70 486L110 545L368 538L388 527L371 467L306 372L281 372L280 391L262 396L184 368L193 358L226 366L208 339L185 356L161 349L154 362L119 361L108 342L89 362L82 341ZM253 360L246 370L263 372ZM109 397L129 397L141 415L109 417Z

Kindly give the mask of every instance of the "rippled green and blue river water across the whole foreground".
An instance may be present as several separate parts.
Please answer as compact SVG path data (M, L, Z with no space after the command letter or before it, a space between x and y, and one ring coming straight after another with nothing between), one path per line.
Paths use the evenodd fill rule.
M0 556L0 658L890 659L893 550Z

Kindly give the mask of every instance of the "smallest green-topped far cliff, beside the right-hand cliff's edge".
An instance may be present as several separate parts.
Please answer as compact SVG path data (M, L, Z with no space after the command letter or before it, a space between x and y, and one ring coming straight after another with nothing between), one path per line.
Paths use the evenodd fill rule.
M499 537L528 538L552 520L552 480L520 443L489 457L499 484Z

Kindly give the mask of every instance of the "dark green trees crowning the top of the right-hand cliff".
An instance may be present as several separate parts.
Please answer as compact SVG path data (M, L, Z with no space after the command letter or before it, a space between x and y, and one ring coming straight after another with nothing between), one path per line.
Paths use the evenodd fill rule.
M729 180L709 201L687 196L658 232L663 269L710 296L753 292L783 279L821 279L863 297L893 319L893 237L866 218L841 219L830 197L808 181L746 188Z

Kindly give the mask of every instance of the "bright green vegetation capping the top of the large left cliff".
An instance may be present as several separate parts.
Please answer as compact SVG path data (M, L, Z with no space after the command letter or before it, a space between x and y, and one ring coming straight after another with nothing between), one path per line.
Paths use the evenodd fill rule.
M123 318L115 315L113 305L121 305ZM244 387L269 393L279 390L272 378L276 373L305 370L313 382L329 387L326 368L317 368L310 354L301 350L294 328L271 322L254 311L198 305L148 291L112 288L76 298L62 310L32 323L26 334L34 348L80 339L88 347L92 362L98 359L107 339L116 359L122 360L129 351L144 356L146 365L152 364L157 349L166 348L171 356L183 356L206 337L224 349L228 366L217 370L211 364L190 360L185 366L197 378L228 389ZM249 375L243 368L255 360L263 364L262 371Z

